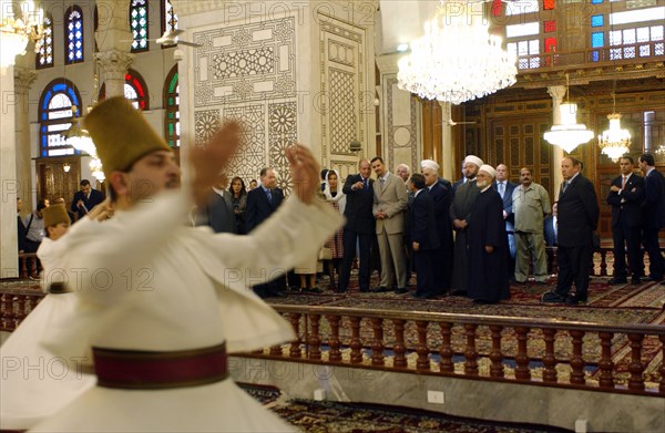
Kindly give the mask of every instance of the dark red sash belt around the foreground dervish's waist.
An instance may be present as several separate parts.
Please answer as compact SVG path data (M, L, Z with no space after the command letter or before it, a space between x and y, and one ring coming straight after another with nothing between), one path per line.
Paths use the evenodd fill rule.
M150 352L92 348L98 385L133 390L196 386L228 377L226 343Z

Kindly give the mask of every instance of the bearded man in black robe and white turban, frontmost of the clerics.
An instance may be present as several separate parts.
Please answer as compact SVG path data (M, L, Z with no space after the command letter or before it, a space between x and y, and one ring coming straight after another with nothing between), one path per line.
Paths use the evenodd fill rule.
M503 200L492 188L497 171L482 165L475 184L479 195L469 219L469 298L477 303L495 303L510 298L510 285L505 270L508 238L503 221Z

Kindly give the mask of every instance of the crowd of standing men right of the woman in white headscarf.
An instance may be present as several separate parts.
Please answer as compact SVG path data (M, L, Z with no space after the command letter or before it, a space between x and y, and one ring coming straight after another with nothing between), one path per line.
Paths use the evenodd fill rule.
M649 154L640 157L644 178L633 173L630 156L621 158L620 167L622 176L612 182L607 197L613 208L615 257L610 282L627 282L626 251L633 283L661 281L658 230L665 227L665 181ZM545 246L551 245L557 247L559 278L542 301L577 305L587 300L593 251L600 243L600 207L581 161L563 158L564 182L553 204L530 168L521 168L520 182L514 184L508 179L505 165L494 168L474 155L464 158L463 178L454 185L438 176L439 165L431 159L422 161L421 173L413 175L405 164L398 166L398 175L389 173L380 157L362 159L358 168L344 186L347 225L337 291L347 291L358 251L360 291L403 293L412 269L416 298L462 295L478 303L493 303L508 299L510 283L526 282L530 274L534 283L546 283ZM376 182L370 178L372 171ZM379 286L371 289L374 236L381 274ZM649 257L648 277L642 245Z

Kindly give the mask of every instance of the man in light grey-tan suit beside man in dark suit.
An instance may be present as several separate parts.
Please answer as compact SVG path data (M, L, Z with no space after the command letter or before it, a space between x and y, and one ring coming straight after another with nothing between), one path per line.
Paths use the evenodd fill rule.
M377 220L377 239L381 256L381 281L374 291L387 291L392 283L393 270L397 275L397 293L407 292L407 260L402 248L405 210L409 196L403 181L390 174L380 156L371 159L375 182L372 214Z

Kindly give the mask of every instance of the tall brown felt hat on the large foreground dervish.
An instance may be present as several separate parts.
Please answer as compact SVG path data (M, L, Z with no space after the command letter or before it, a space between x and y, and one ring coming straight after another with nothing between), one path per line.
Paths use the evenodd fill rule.
M106 178L113 172L126 172L149 153L171 151L164 138L123 96L103 101L83 122L94 142Z

